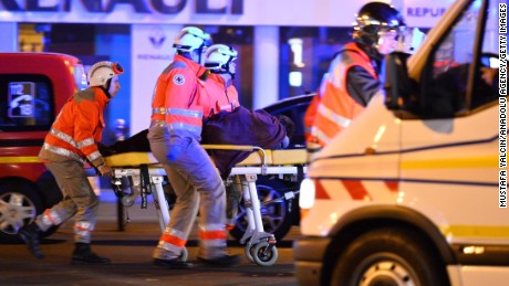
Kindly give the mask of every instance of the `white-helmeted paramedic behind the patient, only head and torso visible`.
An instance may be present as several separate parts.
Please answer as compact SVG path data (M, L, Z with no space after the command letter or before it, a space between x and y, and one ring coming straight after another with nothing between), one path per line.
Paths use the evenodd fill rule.
M204 100L204 113L209 117L219 112L231 112L239 104L239 94L233 86L236 75L237 51L225 44L215 44L205 53L205 67L210 71L206 84L207 100Z

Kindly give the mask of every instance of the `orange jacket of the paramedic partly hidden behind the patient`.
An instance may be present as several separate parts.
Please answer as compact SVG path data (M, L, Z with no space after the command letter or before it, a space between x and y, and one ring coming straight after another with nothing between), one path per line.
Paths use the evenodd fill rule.
M220 112L232 112L239 107L239 94L231 81L225 82L219 74L210 74L205 85L206 96L201 97L204 116L209 117Z

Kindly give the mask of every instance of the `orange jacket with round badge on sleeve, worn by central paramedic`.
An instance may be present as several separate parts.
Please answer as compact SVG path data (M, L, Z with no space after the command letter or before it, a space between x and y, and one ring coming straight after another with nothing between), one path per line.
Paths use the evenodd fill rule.
M200 139L205 94L204 76L207 68L181 55L175 55L157 78L152 100L152 121L166 121L169 131L183 137Z

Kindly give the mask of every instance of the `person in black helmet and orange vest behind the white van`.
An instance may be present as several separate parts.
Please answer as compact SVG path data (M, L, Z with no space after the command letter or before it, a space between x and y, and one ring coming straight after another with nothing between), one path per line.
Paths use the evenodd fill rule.
M399 12L386 3L371 2L361 8L354 41L334 56L304 115L311 157L347 127L381 89L381 62L395 50L404 25Z

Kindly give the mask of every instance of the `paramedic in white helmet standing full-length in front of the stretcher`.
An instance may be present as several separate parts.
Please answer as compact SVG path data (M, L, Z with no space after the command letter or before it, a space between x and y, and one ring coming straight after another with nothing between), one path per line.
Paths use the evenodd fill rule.
M200 65L210 35L198 28L184 28L176 36L177 54L159 75L152 103L148 140L154 157L163 163L177 200L172 219L154 250L154 263L188 268L181 261L199 206L198 259L229 266L240 262L226 251L225 184L200 146L204 85L208 71Z

